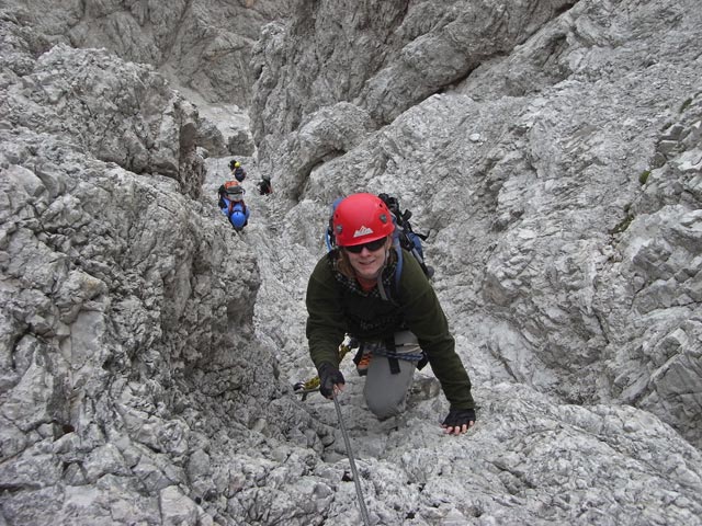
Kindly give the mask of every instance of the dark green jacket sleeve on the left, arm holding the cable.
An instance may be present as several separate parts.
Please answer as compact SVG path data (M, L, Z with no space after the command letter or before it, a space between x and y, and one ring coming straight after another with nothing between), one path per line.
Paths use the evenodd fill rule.
M317 369L325 362L339 366L339 345L347 330L337 282L327 258L319 260L309 276L305 298L309 356Z

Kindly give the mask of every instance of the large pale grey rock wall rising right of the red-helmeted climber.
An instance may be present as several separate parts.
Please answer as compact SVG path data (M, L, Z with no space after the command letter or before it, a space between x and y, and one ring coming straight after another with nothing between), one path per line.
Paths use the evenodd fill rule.
M498 4L484 8L505 20L511 14ZM514 16L523 8L513 7ZM314 27L279 25L263 34L260 61L273 66L259 76L265 106L252 113L265 123L256 128L262 144L275 139L260 149L261 165L293 199L398 192L424 218L419 226L434 232L428 251L442 276L437 288L451 291L449 310L467 332L475 367L490 364L490 376L573 402L645 407L699 446L702 87L700 16L692 8L582 1L547 23L534 10L541 25L526 32L531 38L496 32L502 38L496 52L480 55L469 76L456 73L453 87L444 83L381 129L369 116L351 126L355 134L342 135L349 115L374 114L365 99L356 96L352 110L303 96L302 81L285 83L299 96L276 98L283 84L273 81L293 75L291 66L275 66L303 53L287 45L297 32L312 32L309 39L332 32L319 7ZM460 20L471 12L457 11ZM441 27L442 10L424 14L427 27ZM520 20L519 27L532 27ZM389 31L393 22L388 14L375 24ZM465 24L463 32L476 30ZM444 57L438 41L420 39L429 56ZM510 53L498 53L508 42ZM333 72L340 87L347 78L358 84L358 75L365 87L377 78L372 68L344 75L342 62L316 67ZM388 85L406 77L392 79ZM291 101L298 106L290 108ZM387 114L406 104L396 101ZM294 127L284 121L291 116L299 126L281 133ZM312 222L324 211L305 206L298 215L296 224Z

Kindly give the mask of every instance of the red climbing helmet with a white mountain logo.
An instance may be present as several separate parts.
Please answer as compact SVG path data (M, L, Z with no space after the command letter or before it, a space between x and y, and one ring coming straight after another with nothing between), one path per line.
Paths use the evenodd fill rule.
M333 235L339 247L375 241L394 230L390 210L373 194L350 195L333 211Z

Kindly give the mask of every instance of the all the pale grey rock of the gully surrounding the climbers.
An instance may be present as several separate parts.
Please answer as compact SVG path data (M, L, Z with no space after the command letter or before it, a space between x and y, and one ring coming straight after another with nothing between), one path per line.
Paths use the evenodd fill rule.
M427 368L380 423L344 364L371 524L702 524L697 2L297 2L241 83L258 157L202 59L213 13L275 15L244 3L3 2L0 523L361 524L290 386L328 206L369 190L431 230L480 405L444 436Z

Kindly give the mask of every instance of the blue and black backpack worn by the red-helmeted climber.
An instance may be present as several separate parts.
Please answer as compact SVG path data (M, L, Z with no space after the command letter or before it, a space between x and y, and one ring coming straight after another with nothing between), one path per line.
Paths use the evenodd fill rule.
M431 266L428 266L424 263L424 251L422 249L422 241L426 241L429 238L429 235L418 233L412 230L411 225L409 224L409 218L412 216L412 213L409 210L405 210L400 213L399 210L399 202L397 197L393 197L388 194L378 194L377 195L383 203L387 206L387 208L393 214L393 221L395 222L395 232L393 233L393 245L397 252L397 267L395 268L395 286L399 285L399 278L403 273L403 251L400 249L405 249L407 252L412 254L421 270L424 272L424 275L428 278L431 278L434 275L434 270ZM327 226L327 231L325 232L325 242L327 244L327 250L331 251L336 248L336 241L333 236L333 211L336 210L339 203L341 203L343 198L339 197L335 199L331 205L331 214L329 216L329 225Z

